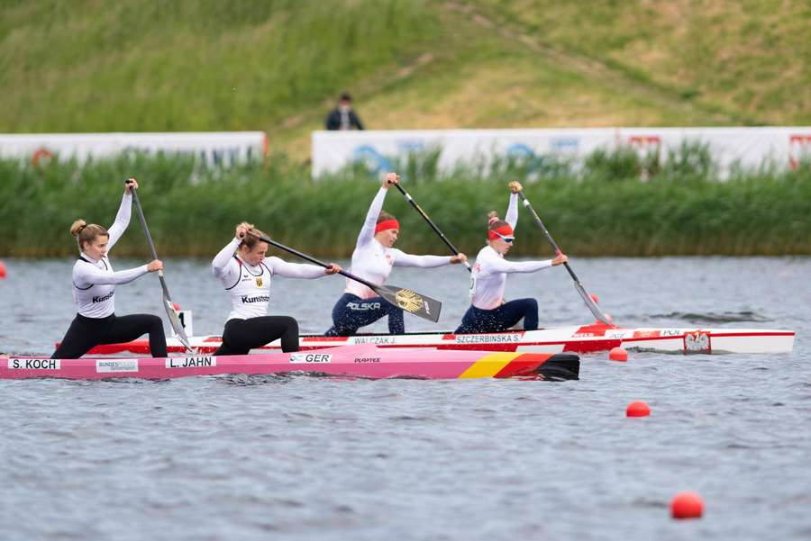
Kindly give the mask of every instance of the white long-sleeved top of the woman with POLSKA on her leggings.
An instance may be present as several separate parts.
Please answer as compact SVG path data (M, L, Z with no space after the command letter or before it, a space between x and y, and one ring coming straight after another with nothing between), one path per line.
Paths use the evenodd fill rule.
M381 187L378 194L369 206L366 214L366 221L358 235L358 242L355 244L355 251L352 252L352 263L350 272L375 285L386 283L388 275L391 274L393 266L419 266L422 268L432 268L434 266L449 265L450 256L413 256L406 254L397 248L386 248L375 239L375 226L378 215L383 210L383 200L386 199L387 189ZM344 293L351 293L361 299L369 299L378 296L367 286L347 278Z

